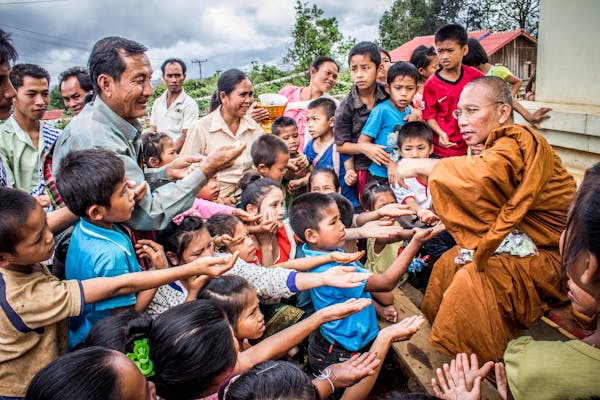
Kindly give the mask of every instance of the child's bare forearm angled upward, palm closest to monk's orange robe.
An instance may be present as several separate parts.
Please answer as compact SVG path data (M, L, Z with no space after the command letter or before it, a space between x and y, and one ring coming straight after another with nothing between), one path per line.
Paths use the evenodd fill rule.
M402 274L408 269L413 257L423 243L435 237L443 229L445 228L439 225L430 229L418 229L408 246L396 257L392 265L384 273L374 274L369 278L365 290L368 292L388 292L392 290L398 284Z

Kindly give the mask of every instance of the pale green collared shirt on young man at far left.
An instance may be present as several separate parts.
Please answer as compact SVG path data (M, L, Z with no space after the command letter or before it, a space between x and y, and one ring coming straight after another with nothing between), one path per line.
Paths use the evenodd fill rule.
M14 116L0 126L0 157L7 167L8 178L14 187L33 196L44 194L41 159L60 133L59 129L40 122L36 146Z

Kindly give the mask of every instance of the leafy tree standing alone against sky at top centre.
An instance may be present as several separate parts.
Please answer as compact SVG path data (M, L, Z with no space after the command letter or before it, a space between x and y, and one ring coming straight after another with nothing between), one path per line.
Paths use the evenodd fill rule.
M292 30L292 44L283 62L294 65L297 71L304 71L315 57L331 55L334 46L342 40L342 34L337 19L323 17L323 10L315 4L298 0L294 8L296 23Z

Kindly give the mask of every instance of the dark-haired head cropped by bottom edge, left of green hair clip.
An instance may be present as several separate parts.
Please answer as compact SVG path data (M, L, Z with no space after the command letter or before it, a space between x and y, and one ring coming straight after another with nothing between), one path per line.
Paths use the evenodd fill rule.
M152 382L119 351L88 347L57 358L33 377L26 400L156 400Z

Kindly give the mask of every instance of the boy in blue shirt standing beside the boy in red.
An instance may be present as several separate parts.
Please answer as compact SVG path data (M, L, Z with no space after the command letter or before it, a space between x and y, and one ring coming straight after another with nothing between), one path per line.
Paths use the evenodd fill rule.
M396 144L394 127L404 125L410 115L412 99L417 93L419 72L407 62L399 62L390 67L385 85L389 100L379 103L373 108L369 118L363 126L358 143L375 143L385 146L385 151L390 156L388 164L372 162L369 173L375 179L383 182L395 182L396 162L399 160L398 146Z

